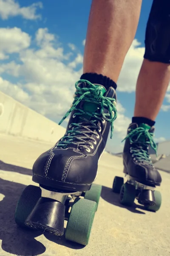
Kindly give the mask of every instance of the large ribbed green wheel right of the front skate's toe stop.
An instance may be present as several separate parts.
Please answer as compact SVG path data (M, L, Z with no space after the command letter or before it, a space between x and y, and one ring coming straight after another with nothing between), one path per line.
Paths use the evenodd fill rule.
M76 198L68 218L65 239L82 245L88 244L96 207L94 201Z

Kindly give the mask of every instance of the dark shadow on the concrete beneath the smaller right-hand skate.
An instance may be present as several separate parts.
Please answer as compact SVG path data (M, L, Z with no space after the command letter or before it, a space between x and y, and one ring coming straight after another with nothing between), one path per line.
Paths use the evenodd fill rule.
M145 214L145 212L140 211L139 209L144 210L144 207L142 205L133 204L132 207L125 207L124 205L120 204L119 202L119 194L113 193L111 188L108 188L106 186L102 186L102 193L101 197L107 201L110 204L113 204L117 207L122 207L128 209L130 212L139 213L139 214ZM136 209L139 208L139 209Z

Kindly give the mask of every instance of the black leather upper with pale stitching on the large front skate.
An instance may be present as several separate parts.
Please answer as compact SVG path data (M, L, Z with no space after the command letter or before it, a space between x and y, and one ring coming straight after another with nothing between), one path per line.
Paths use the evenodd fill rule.
M115 90L110 87L106 96L116 99ZM104 109L104 112L108 113L108 109ZM70 129L71 123L79 122L79 117L74 113L75 111L72 111L67 130ZM98 135L91 135L95 141L91 140L93 146L88 145L88 151L72 143L66 148L58 147L61 141L59 140L53 148L41 154L35 161L33 175L65 183L91 184L95 180L98 160L104 151L110 130L110 122L103 119L97 125L100 127Z

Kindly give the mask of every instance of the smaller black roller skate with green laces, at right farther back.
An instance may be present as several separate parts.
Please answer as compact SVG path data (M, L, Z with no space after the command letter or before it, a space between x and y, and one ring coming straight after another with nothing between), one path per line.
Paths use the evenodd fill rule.
M113 192L120 193L122 204L131 206L137 198L146 209L157 211L161 206L161 194L155 188L161 184L161 175L149 156L149 146L156 152L153 133L154 127L149 125L130 124L123 151L127 182L124 184L122 177L115 177Z

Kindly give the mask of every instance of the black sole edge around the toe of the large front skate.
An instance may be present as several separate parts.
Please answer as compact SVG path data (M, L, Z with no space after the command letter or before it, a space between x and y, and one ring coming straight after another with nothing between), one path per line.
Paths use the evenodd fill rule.
M91 188L91 184L65 183L62 181L51 180L51 179L47 179L37 175L33 175L32 180L35 183L39 183L44 186L48 186L57 190L61 189L61 190L68 190L68 191L84 192L84 191L88 191Z

